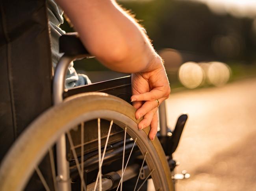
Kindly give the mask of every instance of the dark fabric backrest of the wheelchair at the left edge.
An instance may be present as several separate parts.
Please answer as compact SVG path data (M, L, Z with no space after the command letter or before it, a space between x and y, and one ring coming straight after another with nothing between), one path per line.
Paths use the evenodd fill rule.
M45 0L0 0L0 162L30 122L52 106L51 81ZM50 182L49 159L40 166ZM32 180L30 191L44 190L37 175Z

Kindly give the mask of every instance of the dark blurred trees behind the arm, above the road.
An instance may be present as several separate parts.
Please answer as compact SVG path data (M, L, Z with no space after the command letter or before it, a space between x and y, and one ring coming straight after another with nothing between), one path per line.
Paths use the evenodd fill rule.
M205 4L181 0L119 0L147 30L157 50L179 50L183 61L255 63L256 22L212 13ZM253 27L255 29L253 29ZM65 21L61 28L73 31ZM88 29L89 30L89 29ZM106 70L96 60L79 61L76 68Z

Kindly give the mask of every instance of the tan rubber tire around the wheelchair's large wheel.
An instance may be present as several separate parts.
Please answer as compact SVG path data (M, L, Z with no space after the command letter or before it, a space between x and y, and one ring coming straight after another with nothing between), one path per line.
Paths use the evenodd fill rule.
M21 190L24 185L20 184L20 180L22 178L29 178L30 174L27 174L27 170L33 168L32 164L34 166L37 165L34 161L39 160L39 152L41 148L45 147L45 142L48 142L50 138L56 140L56 137L61 135L63 131L61 131L61 128L70 120L74 120L74 118L81 115L81 113L102 108L122 113L137 124L142 120L142 118L139 120L135 118L134 107L124 100L106 93L82 93L69 97L65 102L51 107L32 122L13 147L11 147L0 168L0 190ZM150 127L143 129L143 131L148 135ZM158 152L168 180L169 190L172 191L173 181L171 179L171 172L157 137L152 141L152 144Z

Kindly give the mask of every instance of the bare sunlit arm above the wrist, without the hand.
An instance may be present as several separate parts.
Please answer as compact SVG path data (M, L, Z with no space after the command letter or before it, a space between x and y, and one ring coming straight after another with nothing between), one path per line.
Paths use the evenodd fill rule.
M159 57L147 36L115 2L111 0L56 0L56 2L69 16L88 51L102 64L125 73L147 71L157 67L154 62L158 63Z

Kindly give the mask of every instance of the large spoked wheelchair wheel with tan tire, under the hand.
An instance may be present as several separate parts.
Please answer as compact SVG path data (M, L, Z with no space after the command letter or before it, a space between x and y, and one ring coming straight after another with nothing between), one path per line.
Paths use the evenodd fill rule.
M116 124L124 130L123 148L125 148L127 142L126 138L128 136L130 136L130 141L134 141L131 153L134 145L139 148L143 163L142 166L139 166L140 168L134 170L137 172L136 177L138 175L140 176L140 169L143 169L145 161L149 172L147 178L151 177L153 179L155 189L157 191L174 190L170 168L158 138L156 137L154 141L151 141L148 138L150 127L147 127L142 131L137 128L139 120L135 119L134 107L120 98L105 93L83 93L69 97L62 104L50 108L39 116L39 118L37 118L20 136L2 162L0 168L0 190L23 190L32 173L38 170L37 165L43 156L46 155L49 148L54 145L56 140L63 133L66 133L69 139L69 144L73 151L74 161L80 178L82 176L81 184L84 184L83 190L95 190L95 188L96 190L109 190L116 187L121 188L122 182L128 180L124 175L131 153L125 164L123 152L122 166L120 167L122 168L121 180L119 184L115 185L115 187L113 187L113 185L110 187L106 186L107 183L103 184L104 176L101 177L103 172L101 167L104 167L103 158L105 153L107 156L106 147L108 141L106 141L106 144L104 145L104 142L100 143L102 138L98 139L98 176L95 179L96 182L88 182L86 180L84 182L83 175L81 175L84 171L85 164L83 164L83 161L85 159L83 158L83 154L82 159L81 157L78 159L76 156L72 139L70 140L70 131L83 122L95 119L98 120L99 137L100 119L102 119L110 122L110 128L112 124ZM103 151L102 154L103 147L105 151ZM125 151L125 149L123 149L123 151ZM127 166L127 169L128 168L129 166ZM135 166L132 166L131 168L135 168ZM139 180L139 176L137 180ZM147 178L145 178L145 181ZM136 183L134 190L140 188L141 186Z

